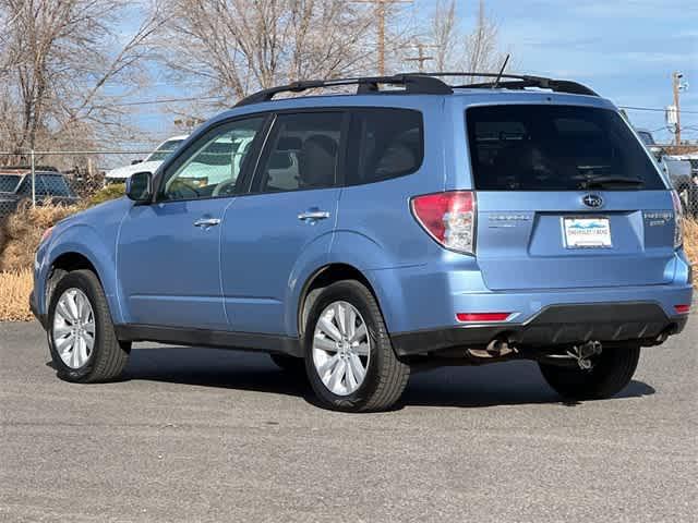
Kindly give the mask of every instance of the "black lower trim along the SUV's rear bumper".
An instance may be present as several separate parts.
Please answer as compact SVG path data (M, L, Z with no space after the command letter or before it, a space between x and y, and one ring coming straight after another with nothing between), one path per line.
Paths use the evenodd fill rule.
M587 341L638 340L647 344L662 333L681 332L687 316L670 318L658 303L622 302L551 305L525 324L462 325L392 336L400 356L445 349L477 348L496 338L532 346L564 345Z

